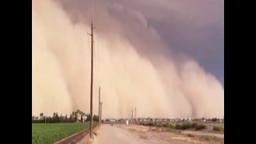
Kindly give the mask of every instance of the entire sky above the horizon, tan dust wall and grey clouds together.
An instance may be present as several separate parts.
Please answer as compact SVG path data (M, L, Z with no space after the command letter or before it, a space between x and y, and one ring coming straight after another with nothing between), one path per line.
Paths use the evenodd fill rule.
M33 0L32 11L33 115L89 113L93 21L103 118L134 107L140 117L223 117L223 1Z

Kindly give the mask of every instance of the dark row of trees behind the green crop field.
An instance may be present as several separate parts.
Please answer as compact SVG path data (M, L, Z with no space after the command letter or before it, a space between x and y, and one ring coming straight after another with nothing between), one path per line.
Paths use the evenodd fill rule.
M80 117L81 116L81 117ZM78 118L80 117L80 118ZM65 116L62 116L62 114L53 113L53 116L44 116L43 113L40 113L38 116L32 116L32 123L75 123L80 122L83 123L83 117L86 117L85 122L90 122L91 115L85 114L83 111L77 109L76 111L72 112L70 116L68 117L67 114ZM93 122L99 122L99 116L94 115L93 116Z

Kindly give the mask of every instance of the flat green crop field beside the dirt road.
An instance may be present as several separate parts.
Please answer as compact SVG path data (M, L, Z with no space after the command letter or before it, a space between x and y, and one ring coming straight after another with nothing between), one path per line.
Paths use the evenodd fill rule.
M32 124L32 143L54 143L90 127L90 123Z

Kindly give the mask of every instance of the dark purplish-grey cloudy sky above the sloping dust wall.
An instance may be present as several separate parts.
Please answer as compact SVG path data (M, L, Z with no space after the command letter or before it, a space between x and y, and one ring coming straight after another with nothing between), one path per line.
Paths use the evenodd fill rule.
M194 58L224 84L224 1L111 1L141 12L169 49Z

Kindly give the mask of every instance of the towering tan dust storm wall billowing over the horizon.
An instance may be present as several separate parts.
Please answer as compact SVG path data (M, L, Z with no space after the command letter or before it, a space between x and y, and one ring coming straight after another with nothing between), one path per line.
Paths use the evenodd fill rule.
M33 115L89 113L94 17L94 114L100 85L102 118L130 117L134 107L137 117L223 117L218 79L173 53L140 11L96 1L95 16L94 1L79 1L33 0Z

